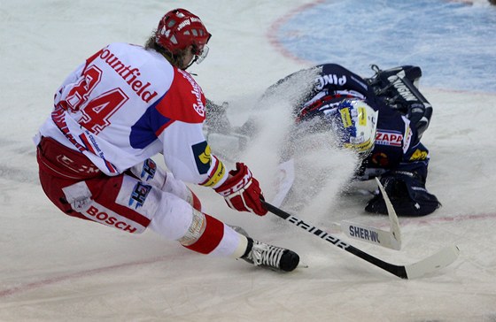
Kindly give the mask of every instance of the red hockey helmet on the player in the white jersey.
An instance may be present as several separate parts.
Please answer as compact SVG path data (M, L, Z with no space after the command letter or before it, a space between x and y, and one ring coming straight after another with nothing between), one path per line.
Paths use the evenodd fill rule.
M211 36L198 16L178 8L160 19L155 41L173 54L193 45L193 54L201 57Z

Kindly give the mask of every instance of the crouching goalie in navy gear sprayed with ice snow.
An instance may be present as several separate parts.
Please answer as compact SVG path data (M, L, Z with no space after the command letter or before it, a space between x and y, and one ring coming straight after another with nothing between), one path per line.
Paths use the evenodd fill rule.
M278 88L313 71L317 75L312 78L314 83L292 106L296 121L290 142L296 142L301 135L332 129L340 136L342 146L354 149L360 156L357 180L380 177L399 215L428 215L440 203L425 188L429 150L420 138L429 126L432 108L415 86L421 69L411 65L387 71L380 71L375 65L373 68L376 75L363 79L341 65L317 65L279 80L262 99L277 95ZM216 105L212 110L218 111L217 119L213 116L207 123L221 125L217 126L219 132L232 131L229 124L215 123L224 109ZM236 135L247 137L256 132L254 119L235 130ZM291 149L282 152L283 161L292 156ZM365 210L387 214L384 197L377 192Z

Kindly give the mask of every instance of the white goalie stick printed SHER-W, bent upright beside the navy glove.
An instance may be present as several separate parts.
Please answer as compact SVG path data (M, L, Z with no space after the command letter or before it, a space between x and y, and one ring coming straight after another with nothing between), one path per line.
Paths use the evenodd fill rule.
M399 250L401 249L401 231L399 230L398 216L392 207L389 197L384 191L383 185L377 178L376 181L386 203L390 221L390 231L385 231L370 226L363 226L361 224L346 220L341 221L340 224L335 223L334 225L339 226L339 229L350 238L354 238L362 242L370 242L388 249Z

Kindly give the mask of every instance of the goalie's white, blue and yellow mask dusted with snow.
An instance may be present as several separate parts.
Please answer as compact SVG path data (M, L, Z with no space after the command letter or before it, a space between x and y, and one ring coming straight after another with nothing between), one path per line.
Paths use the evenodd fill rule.
M378 111L358 99L345 99L339 103L332 117L332 125L337 131L340 145L352 149L360 157L367 157L376 142L378 114Z

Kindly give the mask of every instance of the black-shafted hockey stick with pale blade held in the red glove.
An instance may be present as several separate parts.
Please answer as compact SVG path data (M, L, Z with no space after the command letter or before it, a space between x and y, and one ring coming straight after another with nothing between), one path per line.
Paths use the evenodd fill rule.
M330 242L331 244L337 246L340 249L344 249L349 253L352 253L356 257L360 257L363 260L366 260L368 263L372 265L376 265L379 268L382 268L384 271L391 272L391 274L398 276L401 279L412 280L415 278L422 277L430 272L435 272L441 268L444 268L450 264L452 264L458 254L460 249L453 246L448 246L444 249L439 250L434 255L430 257L424 258L419 262L410 264L410 265L393 265L387 262L384 262L382 259L377 257L373 257L372 255L353 247L352 245L341 241L335 236L327 234L322 229L319 229L315 226L312 226L305 221L298 219L291 214L283 211L270 203L267 203L264 200L261 200L261 203L266 207L267 211L272 212L275 216L282 218L286 221L291 222L291 224L298 226L302 229L305 229L308 233L314 234L315 236L323 239L326 242Z

